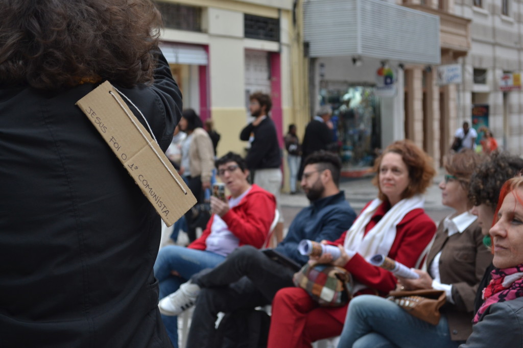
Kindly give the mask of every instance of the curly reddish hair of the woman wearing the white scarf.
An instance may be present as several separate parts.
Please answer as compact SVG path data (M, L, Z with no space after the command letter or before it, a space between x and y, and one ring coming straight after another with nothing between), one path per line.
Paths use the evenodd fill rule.
M430 186L432 179L436 175L436 170L433 167L433 160L412 141L405 139L395 141L387 146L380 157L374 161L374 167L372 170L376 173L376 176L372 179L372 183L378 187L378 198L382 201L389 200L381 191L379 185L381 161L383 160L383 156L388 153L400 155L403 163L405 163L408 168L408 179L410 180L410 183L401 194L401 199L411 198L416 194L425 193L427 188Z

